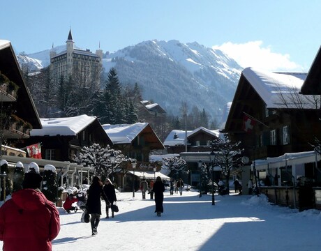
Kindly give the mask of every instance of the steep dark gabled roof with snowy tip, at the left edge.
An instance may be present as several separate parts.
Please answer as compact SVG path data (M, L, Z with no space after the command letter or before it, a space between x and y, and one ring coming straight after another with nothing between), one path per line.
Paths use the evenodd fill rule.
M17 102L14 104L17 116L31 123L33 128L41 128L36 106L33 103L29 89L24 83L15 52L8 40L0 40L0 72L19 86Z

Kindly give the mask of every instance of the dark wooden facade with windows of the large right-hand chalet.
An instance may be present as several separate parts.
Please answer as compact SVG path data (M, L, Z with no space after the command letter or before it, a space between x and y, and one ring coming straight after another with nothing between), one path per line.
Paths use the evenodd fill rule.
M314 138L321 136L318 109L286 107L286 104L267 107L255 87L242 73L224 130L233 141L242 142L244 155L260 159L311 151ZM318 104L320 99L316 107ZM243 129L246 114L255 123L251 132Z

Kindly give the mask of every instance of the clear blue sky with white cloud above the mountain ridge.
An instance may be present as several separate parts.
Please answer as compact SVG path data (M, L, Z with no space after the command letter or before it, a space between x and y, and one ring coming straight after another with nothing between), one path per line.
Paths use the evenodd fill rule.
M308 71L321 45L321 1L0 1L0 39L15 52L64 45L113 52L144 40L196 41L243 66Z

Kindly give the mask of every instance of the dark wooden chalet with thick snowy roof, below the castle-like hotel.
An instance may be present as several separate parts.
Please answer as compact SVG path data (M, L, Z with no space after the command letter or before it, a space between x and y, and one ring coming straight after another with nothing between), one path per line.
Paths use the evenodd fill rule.
M41 143L42 158L70 161L83 146L97 143L112 146L112 141L96 116L40 119L43 128L31 130L27 145Z

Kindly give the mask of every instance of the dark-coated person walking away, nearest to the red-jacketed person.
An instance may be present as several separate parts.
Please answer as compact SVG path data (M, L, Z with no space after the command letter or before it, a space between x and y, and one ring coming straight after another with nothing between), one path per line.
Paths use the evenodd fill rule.
M107 206L110 206L105 192L103 190L103 183L100 181L98 176L94 176L93 183L89 186L87 190L87 212L91 215L90 224L91 224L91 234L97 234L97 227L100 222L101 215L101 200L100 197L105 199Z

